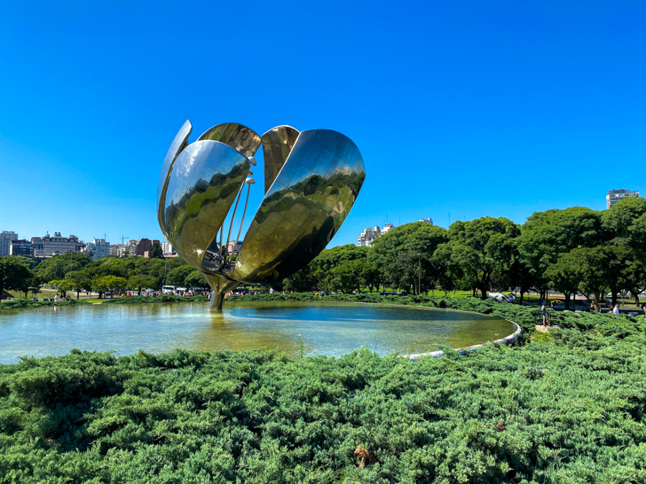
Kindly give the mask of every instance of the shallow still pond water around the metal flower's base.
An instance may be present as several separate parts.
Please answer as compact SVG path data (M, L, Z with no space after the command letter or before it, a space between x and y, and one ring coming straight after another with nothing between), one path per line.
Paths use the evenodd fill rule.
M466 347L515 331L492 316L352 303L234 302L102 304L0 312L0 363L65 355L76 347L131 355L190 349L280 348L288 355L338 356L360 347L380 355Z

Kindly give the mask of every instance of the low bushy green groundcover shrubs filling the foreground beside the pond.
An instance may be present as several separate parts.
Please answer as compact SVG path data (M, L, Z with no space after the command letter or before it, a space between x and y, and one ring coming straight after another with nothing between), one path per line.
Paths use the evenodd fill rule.
M542 343L417 362L72 350L0 365L0 482L645 482L646 324L568 317Z

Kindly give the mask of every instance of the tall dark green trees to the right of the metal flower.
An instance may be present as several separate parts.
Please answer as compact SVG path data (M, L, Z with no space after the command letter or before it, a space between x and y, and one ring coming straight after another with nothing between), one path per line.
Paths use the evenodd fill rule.
M373 246L337 246L283 281L288 290L351 293L390 286L409 293L518 288L543 298L549 290L603 301L629 292L639 304L646 289L646 199L625 199L609 210L586 207L532 214L519 225L507 218L453 222L448 230L425 222L402 225Z

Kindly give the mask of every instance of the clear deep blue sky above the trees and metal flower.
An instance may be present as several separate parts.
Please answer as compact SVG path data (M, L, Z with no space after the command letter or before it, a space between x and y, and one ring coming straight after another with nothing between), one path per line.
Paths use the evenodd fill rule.
M0 45L0 230L161 238L189 119L336 129L366 226L646 194L643 2L12 2ZM262 179L262 176L257 176ZM260 202L262 183L256 184ZM251 217L248 217L250 220Z

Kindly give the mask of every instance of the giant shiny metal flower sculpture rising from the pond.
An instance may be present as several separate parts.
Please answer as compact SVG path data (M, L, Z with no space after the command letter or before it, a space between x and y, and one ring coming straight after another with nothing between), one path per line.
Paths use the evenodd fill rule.
M279 126L260 137L241 124L224 123L188 144L192 130L186 121L163 162L159 224L177 254L209 281L210 308L221 309L224 294L236 285L281 280L311 262L350 212L366 168L357 145L328 129ZM240 253L230 254L230 242L236 247L240 240L255 183L253 156L261 144L264 199ZM232 238L245 185L240 228Z

